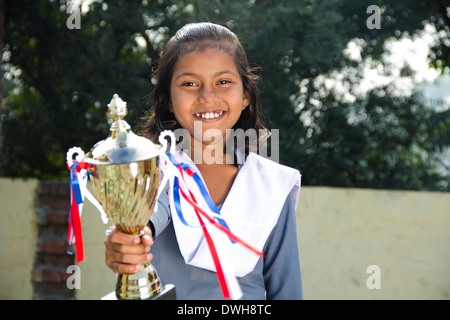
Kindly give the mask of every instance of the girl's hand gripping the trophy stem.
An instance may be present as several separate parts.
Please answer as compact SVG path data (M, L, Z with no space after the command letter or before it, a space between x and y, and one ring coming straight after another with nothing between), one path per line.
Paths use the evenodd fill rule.
M125 234L111 227L105 240L105 262L115 273L134 274L141 265L153 259L150 248L153 245L152 232L147 226L139 237Z

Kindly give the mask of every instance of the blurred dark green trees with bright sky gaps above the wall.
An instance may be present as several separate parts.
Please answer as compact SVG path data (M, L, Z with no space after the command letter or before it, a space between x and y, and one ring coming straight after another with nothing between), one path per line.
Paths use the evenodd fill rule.
M280 163L304 186L449 197L448 1L1 0L0 10L4 179L66 186L67 150L106 137L114 93L139 131L165 43L210 21L234 31L260 68Z

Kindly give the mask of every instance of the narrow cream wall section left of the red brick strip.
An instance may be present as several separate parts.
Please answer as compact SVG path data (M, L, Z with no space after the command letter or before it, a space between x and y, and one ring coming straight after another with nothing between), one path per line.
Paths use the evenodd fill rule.
M0 178L0 299L32 299L38 181Z

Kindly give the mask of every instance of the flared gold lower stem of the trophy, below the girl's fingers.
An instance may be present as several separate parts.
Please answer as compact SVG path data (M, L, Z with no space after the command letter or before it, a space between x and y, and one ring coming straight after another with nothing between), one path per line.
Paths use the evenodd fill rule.
M151 263L145 263L135 274L119 274L116 282L116 297L119 300L157 299L163 285Z

